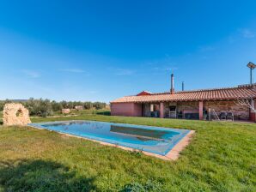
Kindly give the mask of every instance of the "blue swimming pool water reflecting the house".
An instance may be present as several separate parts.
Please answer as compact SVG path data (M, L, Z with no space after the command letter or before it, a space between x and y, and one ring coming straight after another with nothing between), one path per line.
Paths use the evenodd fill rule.
M29 125L161 155L167 154L190 131L95 121L31 123Z

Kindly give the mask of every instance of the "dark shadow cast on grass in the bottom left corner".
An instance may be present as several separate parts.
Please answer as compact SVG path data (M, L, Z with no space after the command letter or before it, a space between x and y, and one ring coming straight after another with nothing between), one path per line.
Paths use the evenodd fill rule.
M53 161L0 161L0 191L96 191L94 177L77 177L75 171ZM1 190L2 189L2 190Z

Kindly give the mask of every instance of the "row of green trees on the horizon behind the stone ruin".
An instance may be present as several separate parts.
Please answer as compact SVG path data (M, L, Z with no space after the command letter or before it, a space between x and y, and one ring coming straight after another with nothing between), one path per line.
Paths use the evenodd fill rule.
M53 111L61 111L62 109L75 109L75 106L82 105L83 109L104 109L106 108L106 103L103 102L82 102L82 101L60 101L50 99L28 99L28 100L9 100L0 101L0 111L3 111L3 106L7 103L21 103L29 111L31 116L46 117L51 116Z

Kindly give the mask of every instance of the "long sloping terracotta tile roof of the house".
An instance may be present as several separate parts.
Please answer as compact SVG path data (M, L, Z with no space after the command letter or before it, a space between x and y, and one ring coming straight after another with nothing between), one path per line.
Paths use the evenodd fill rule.
M193 101L193 100L229 100L229 99L256 99L256 89L248 86L203 89L171 93L152 93L151 95L125 96L115 99L111 103L143 103L159 101Z

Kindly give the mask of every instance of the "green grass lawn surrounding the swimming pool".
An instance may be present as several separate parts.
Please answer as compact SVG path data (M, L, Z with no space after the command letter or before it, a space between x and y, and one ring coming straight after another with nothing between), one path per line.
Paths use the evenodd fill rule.
M47 130L0 126L0 191L256 191L256 124L82 115L194 129L176 161L102 146Z

